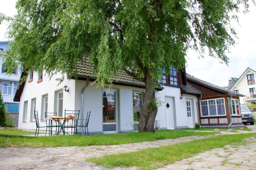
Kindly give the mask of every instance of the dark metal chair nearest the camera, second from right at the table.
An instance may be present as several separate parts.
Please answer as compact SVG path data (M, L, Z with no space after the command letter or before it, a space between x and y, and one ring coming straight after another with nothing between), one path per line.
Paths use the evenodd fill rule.
M64 122L61 126L63 135L65 135L65 133L70 135L68 133L69 128L71 128L71 135L73 133L73 128L74 128L74 133L75 133L75 129L77 128L79 113L80 113L80 110L66 110L65 109L65 118L64 118ZM65 132L65 129L67 129L67 132Z

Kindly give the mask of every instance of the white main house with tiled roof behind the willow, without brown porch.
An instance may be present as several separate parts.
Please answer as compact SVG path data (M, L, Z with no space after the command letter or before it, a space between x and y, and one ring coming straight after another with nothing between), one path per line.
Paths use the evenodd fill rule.
M79 62L78 80L76 81L72 77L70 80L65 78L60 85L55 80L55 78L61 76L60 74L54 75L49 80L44 73L30 72L27 80L20 86L14 97L14 101L20 101L21 103L18 128L36 129L33 110L38 110L39 119L41 119L39 123L44 126L45 111L57 112L58 116L64 116L65 109L81 110L83 108L83 113L80 113L80 119L82 114L83 118L85 118L87 111L91 110L88 125L90 134L137 130L145 84L134 80L125 72L121 72L119 80L113 82L112 89L108 91L108 84L104 88L97 89L95 84L91 85L95 78L88 65L88 60L82 64ZM163 72L162 81L160 82L164 84L159 83L159 87L155 88L157 90L156 97L163 101L162 106L158 108L155 128L193 128L199 119L197 103L202 93L193 87L190 82L187 82L185 71L170 69L171 75L169 77ZM24 72L22 76L25 76ZM81 90L87 84L88 78L90 82L84 89L84 100L82 102ZM68 86L68 92L63 90L65 85ZM207 93L207 95L213 96L211 93ZM227 101L224 100L218 102L227 104ZM222 105L220 107L222 108ZM222 112L223 110L221 110ZM225 111L225 114L228 115L229 112ZM80 123L79 121L78 124ZM78 131L81 132L80 129Z

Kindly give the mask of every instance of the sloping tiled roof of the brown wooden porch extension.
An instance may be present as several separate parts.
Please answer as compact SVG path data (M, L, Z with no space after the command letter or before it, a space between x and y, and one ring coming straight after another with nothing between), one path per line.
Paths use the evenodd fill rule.
M211 84L211 83L209 83L209 82L200 80L199 78L196 78L196 77L191 76L191 75L189 75L189 74L186 74L186 76L187 76L187 80L196 82L196 83L198 83L198 84L201 84L201 85L203 85L203 86L209 87L209 88L214 89L214 90L217 90L217 91L219 91L219 92L226 93L226 94L234 94L234 95L237 95L237 96L244 96L244 95L242 95L242 94L240 94L240 93L232 92L232 91L230 91L230 90L228 90L228 89L225 89L225 88L216 86L216 85L214 85L214 84Z

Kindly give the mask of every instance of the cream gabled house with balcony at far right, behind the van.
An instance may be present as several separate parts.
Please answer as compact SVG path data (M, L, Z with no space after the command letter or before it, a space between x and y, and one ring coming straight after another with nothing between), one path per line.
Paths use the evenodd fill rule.
M245 95L240 97L241 104L256 104L255 76L256 72L248 67L236 82L229 83L229 90Z

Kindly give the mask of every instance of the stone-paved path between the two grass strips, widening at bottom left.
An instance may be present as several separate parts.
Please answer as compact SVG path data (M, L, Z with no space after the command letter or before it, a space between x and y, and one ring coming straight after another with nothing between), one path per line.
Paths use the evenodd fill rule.
M252 131L255 132L255 131ZM240 131L237 133L251 133ZM90 156L102 156L111 153L134 152L150 147L161 145L172 145L180 142L209 138L216 135L235 134L226 132L208 136L189 136L176 139L165 139L158 141L147 141L141 143L130 143L109 146L71 146L56 148L0 148L0 169L108 169L103 166L85 162ZM256 164L255 164L256 165Z

